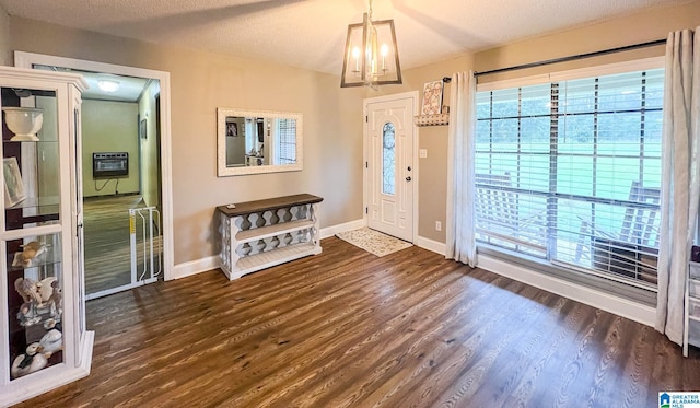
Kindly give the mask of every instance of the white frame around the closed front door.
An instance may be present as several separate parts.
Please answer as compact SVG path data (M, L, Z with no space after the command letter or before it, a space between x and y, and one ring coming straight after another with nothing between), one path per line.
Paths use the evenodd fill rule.
M362 211L362 219L364 222L364 225L369 225L369 208L370 208L370 175L369 175L369 161L370 161L370 119L369 119L369 109L368 109L368 105L369 104L373 104L373 103L381 103L381 102L392 102L392 101L397 101L397 100L411 100L411 106L413 109L413 115L416 116L418 115L418 109L419 109L419 101L420 98L418 97L418 91L409 91L409 92L401 92L401 93L395 93L392 95L384 95L384 96L375 96L375 97L368 97L364 98L362 101L362 116L364 116L364 124L362 126L362 207L363 210ZM412 172L412 186L411 186L411 193L412 193L412 213L411 213L411 243L416 242L416 238L418 237L418 184L419 184L419 174L420 174L420 170L418 166L418 140L419 140L419 135L418 135L418 129L419 127L416 126L416 124L412 120L411 117L411 126L413 126L413 140L412 140L412 145L413 145L413 151L411 152L411 159L413 161L413 172Z

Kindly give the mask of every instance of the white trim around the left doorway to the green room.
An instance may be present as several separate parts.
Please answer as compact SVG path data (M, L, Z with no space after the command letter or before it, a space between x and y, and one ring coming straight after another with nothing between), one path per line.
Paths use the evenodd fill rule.
M145 68L117 66L84 59L44 54L14 51L14 66L32 69L33 65L66 67L85 71L115 73L129 77L153 78L161 81L161 193L163 197L163 278L175 279L173 246L173 173L171 162L171 73Z

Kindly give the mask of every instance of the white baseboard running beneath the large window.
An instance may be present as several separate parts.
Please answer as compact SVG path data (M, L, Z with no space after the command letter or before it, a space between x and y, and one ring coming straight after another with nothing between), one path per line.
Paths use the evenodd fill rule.
M652 306L639 304L626 299L582 287L562 279L513 265L486 255L477 258L478 267L493 273L530 284L535 288L587 304L593 307L610 312L646 326L654 326L656 310Z

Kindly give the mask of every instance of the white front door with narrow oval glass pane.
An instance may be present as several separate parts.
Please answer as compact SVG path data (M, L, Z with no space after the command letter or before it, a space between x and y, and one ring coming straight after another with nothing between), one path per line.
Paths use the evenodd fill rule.
M397 96L366 103L368 225L413 241L413 105Z

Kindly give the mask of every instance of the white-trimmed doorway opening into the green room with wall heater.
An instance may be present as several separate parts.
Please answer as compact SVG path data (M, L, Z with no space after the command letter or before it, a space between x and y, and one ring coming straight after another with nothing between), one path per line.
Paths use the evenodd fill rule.
M28 53L15 53L18 61L80 73L90 84L82 94L79 158L85 298L168 279L172 203L171 186L163 183L170 162L163 159L170 156L170 120L161 106L170 94L167 73Z

